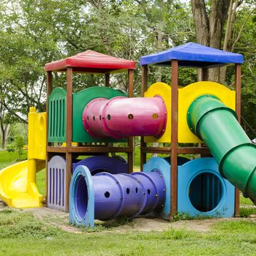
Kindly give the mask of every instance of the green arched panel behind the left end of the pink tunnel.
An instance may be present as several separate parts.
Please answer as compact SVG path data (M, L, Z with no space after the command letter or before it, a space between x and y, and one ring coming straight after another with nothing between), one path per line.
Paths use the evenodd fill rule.
M127 142L127 140L116 140L114 138L98 139L91 137L83 127L83 110L86 105L96 98L111 99L113 97L127 97L124 91L114 90L109 87L90 87L73 94L73 122L72 141L80 143L92 142Z

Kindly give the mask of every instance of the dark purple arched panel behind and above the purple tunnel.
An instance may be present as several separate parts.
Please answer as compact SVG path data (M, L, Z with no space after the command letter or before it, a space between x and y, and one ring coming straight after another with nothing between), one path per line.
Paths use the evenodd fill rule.
M119 157L95 156L81 160L73 164L73 170L79 165L86 165L89 168L91 175L101 172L112 174L128 173L128 164L124 159Z

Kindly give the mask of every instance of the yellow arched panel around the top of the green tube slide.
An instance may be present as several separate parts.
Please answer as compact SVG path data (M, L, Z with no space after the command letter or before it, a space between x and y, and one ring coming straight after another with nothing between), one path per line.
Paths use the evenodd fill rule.
M219 83L197 82L178 89L178 142L201 143L187 125L187 111L192 101L203 94L218 97L229 108L236 110L236 91L232 91Z

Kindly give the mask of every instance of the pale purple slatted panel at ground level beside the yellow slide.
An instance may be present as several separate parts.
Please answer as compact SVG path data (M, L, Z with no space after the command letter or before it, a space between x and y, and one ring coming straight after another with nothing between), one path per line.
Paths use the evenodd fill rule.
M48 208L64 211L66 207L66 161L54 156L48 162Z

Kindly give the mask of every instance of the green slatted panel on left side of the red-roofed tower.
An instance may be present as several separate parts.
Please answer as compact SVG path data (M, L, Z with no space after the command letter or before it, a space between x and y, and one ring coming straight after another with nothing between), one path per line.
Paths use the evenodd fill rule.
M54 89L48 99L48 142L66 142L66 90Z

